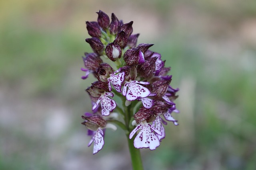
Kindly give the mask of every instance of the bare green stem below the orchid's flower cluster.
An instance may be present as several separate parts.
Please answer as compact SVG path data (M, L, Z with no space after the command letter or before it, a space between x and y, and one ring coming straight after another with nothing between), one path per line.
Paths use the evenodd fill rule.
M130 155L131 155L131 159L132 159L132 169L133 170L143 170L143 164L142 164L142 159L141 159L141 155L140 155L140 150L133 146L133 141L134 141L135 136L132 139L129 139L129 134L126 136L127 136L128 146L129 146Z

